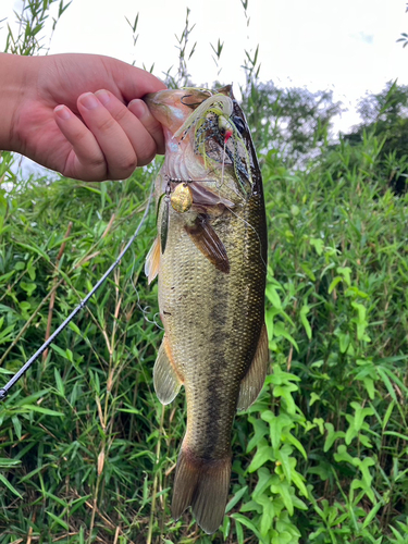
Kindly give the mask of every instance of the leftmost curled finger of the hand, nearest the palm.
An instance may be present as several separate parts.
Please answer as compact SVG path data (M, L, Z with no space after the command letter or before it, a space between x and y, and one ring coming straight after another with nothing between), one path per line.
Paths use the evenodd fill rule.
M92 133L66 106L54 108L54 120L72 146L61 173L87 182L104 180L106 160Z

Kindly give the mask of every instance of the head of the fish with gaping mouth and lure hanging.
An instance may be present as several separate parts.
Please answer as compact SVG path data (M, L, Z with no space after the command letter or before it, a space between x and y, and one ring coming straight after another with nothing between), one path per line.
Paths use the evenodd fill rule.
M211 189L212 180L219 194L226 198L232 191L244 201L257 191L260 169L231 85L215 91L165 89L144 100L163 126L168 180L206 181Z

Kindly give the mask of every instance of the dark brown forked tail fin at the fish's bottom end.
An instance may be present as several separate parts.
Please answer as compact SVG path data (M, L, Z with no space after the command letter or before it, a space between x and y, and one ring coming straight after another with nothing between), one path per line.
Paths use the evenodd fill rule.
M197 523L208 534L224 518L231 478L231 456L208 460L182 448L174 480L172 516L178 519L191 506Z

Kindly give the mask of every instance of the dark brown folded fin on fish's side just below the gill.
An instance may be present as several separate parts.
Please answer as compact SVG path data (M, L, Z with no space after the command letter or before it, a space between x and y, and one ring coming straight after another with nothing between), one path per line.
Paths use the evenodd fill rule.
M193 225L185 225L185 230L201 254L214 264L217 270L227 274L230 272L228 256L224 244L210 225L207 217L199 213Z

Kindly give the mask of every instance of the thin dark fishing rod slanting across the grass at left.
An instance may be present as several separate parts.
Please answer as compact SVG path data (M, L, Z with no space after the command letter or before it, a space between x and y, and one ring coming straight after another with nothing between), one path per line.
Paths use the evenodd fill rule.
M118 257L118 259L113 262L113 264L111 264L109 267L109 269L107 270L107 272L97 282L97 284L90 289L90 292L86 295L86 297L83 300L81 300L81 302L75 308L75 310L73 310L70 313L70 316L65 319L65 321L51 334L51 336L42 344L42 346L39 349L37 349L37 351L18 370L18 372L16 374L14 374L13 378L11 380L9 380L9 382L4 385L4 387L2 387L0 390L0 400L3 400L8 396L9 391L11 390L11 387L27 372L27 370L33 364L33 362L35 362L38 359L38 357L50 346L50 344L60 335L60 333L62 333L62 331L75 318L75 316L83 308L85 308L85 306L87 305L89 298L99 289L99 287L102 285L102 283L109 276L109 274L111 274L111 272L113 272L113 270L121 262L121 260L123 259L123 256L126 254L126 251L129 249L129 247L132 246L132 244L134 243L134 240L138 236L139 232L140 232L140 228L141 228L141 226L144 225L144 223L145 223L145 221L147 219L147 215L148 215L148 212L149 212L149 208L150 208L150 203L151 203L151 199L152 199L152 196L153 196L153 187L154 187L154 185L152 184L151 185L151 189L150 189L149 199L147 201L146 210L145 210L145 213L143 214L140 223L137 225L135 234L128 240L128 243L126 244L126 246L124 247L123 251L120 254L120 256Z

